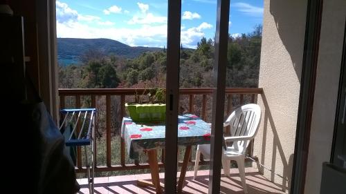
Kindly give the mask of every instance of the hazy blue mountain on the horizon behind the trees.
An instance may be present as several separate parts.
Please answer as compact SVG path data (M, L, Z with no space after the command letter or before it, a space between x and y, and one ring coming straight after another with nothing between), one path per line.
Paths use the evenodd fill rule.
M57 38L57 59L62 65L78 64L78 57L87 50L101 50L104 54L113 53L125 58L133 59L143 52L162 50L163 48L128 46L125 43L112 39L72 39Z

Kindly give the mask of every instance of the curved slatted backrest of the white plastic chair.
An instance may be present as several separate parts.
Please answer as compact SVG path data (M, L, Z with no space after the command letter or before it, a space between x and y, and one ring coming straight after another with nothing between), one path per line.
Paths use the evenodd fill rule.
M257 104L246 104L233 111L225 124L230 126L230 136L250 136L251 139L257 134L260 127L261 108ZM250 140L233 142L233 147L245 154Z

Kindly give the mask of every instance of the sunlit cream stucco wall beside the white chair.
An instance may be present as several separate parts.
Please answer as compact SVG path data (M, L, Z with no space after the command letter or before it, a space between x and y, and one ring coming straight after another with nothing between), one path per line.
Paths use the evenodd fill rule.
M307 0L264 0L258 98L262 107L254 155L261 171L289 191L300 95Z

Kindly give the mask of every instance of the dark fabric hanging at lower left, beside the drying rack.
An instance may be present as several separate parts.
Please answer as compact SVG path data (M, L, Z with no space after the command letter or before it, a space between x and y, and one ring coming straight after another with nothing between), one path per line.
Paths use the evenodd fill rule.
M55 125L42 99L32 83L26 84L33 97L21 103L21 122L33 140L32 153L33 192L27 193L77 193L80 186L76 181L75 166L65 146L64 136ZM28 136L28 137L30 137ZM31 168L31 167L30 167ZM30 176L32 177L32 176Z

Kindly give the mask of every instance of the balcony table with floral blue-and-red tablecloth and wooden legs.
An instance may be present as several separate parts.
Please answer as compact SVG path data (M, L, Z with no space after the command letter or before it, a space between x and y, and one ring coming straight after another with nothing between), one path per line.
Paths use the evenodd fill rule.
M210 124L191 114L179 115L178 119L178 144L186 146L177 188L178 192L181 192L191 146L210 144ZM155 186L156 193L161 193L156 148L165 148L165 122L134 122L129 117L123 117L121 136L125 139L131 159L138 159L139 154L143 152L148 154L152 183L138 180L138 186Z

